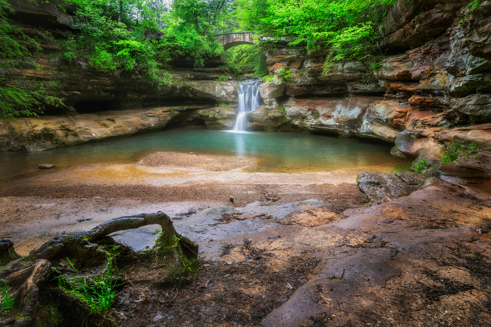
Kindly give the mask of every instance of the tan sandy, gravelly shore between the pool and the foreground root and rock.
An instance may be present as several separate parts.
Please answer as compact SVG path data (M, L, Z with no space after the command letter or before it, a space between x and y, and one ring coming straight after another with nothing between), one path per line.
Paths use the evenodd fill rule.
M177 217L217 205L313 198L365 205L356 186L361 170L240 171L252 163L239 157L157 152L136 164L81 166L12 181L0 189L0 238L11 239L19 253L27 254L58 234L142 212L160 210Z

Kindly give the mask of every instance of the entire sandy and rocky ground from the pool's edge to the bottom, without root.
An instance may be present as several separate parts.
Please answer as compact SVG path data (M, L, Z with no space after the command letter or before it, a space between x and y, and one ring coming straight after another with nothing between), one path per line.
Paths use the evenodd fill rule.
M168 213L199 245L202 265L170 288L151 281L158 262L130 265L112 312L120 326L490 326L489 179L422 178L387 201L374 185L411 186L407 175L360 175L365 196L355 171L160 167L160 179L152 171L137 183L121 173L135 166L81 167L3 188L0 237L26 254L57 233ZM140 250L155 228L114 237Z

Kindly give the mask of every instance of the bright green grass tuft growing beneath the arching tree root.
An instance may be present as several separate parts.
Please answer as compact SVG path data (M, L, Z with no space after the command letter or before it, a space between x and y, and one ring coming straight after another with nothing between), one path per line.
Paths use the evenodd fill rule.
M77 272L72 262L68 258L66 259L72 269ZM75 274L72 274L71 280L64 277L60 277L59 280L62 280L68 286L69 291L87 303L92 310L105 312L109 310L114 297L117 295L114 291L114 286L118 281L119 275L111 281L110 271L111 263L106 267L106 276L103 280L94 281L88 277L77 277Z

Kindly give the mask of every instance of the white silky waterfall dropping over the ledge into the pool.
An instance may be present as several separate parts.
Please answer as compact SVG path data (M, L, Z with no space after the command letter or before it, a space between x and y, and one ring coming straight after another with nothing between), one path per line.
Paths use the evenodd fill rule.
M246 80L237 86L239 103L237 105L237 118L233 132L245 132L247 127L247 113L259 106L259 82L258 80Z

